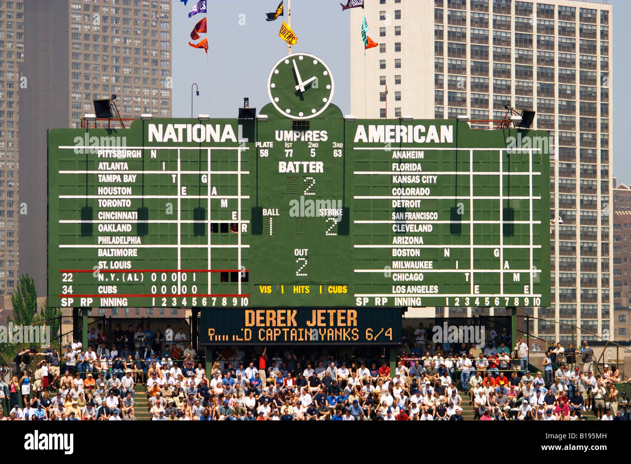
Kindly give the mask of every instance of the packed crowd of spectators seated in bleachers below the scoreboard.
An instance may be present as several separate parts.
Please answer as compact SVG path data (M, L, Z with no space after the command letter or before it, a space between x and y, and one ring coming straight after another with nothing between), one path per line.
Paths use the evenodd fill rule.
M480 420L628 419L618 369L594 375L587 343L550 347L543 372L531 373L528 345L509 348L505 330L483 348L426 337L422 324L406 337L394 372L358 347L298 356L225 347L206 373L182 329L117 325L109 341L98 328L87 349L74 340L62 354L18 352L0 381L9 403L0 420L136 420L137 395L153 420L464 420L466 403Z

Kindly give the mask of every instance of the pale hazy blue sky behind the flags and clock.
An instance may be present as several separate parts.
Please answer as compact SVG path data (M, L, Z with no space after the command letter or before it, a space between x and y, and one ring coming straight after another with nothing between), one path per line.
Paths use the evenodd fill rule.
M350 113L350 47L348 41L361 40L360 25L349 32L350 11L343 12L342 0L292 0L292 29L298 44L292 52L309 52L321 57L335 80L333 103L342 112ZM417 0L432 1L433 0ZM172 0L173 17L173 113L175 117L191 116L191 84L198 83L199 96L193 96L194 115L210 113L212 117L237 117L244 96L250 106L262 108L269 101L266 83L269 71L278 59L287 54L287 45L278 37L281 18L266 21L265 13L276 9L280 0L209 0L208 57L203 49L189 47L190 33L203 13L188 18L196 0L184 6ZM344 1L346 3L346 1ZM576 2L580 6L581 2ZM630 0L609 0L613 4L613 86L610 118L613 140L613 175L618 183L631 182L631 156L623 136L628 131L623 113L631 107L631 92L624 84L631 76L628 51L628 23L631 20ZM285 2L286 6L286 2ZM286 13L285 13L286 15ZM283 18L286 19L286 16ZM378 25L370 25L369 35L378 34ZM354 33L357 32L357 33ZM193 41L191 41L193 42ZM194 42L199 42L196 40ZM625 109L627 108L627 109Z

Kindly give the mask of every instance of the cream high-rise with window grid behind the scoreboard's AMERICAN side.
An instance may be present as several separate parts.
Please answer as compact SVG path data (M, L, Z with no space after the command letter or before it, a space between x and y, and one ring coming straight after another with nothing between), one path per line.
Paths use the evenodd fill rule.
M363 14L378 48L359 39ZM609 4L574 0L366 0L351 9L355 117L497 120L512 105L535 110L533 128L550 132L551 308L524 313L539 318L531 333L564 344L613 327L611 15ZM444 315L465 314L471 308Z

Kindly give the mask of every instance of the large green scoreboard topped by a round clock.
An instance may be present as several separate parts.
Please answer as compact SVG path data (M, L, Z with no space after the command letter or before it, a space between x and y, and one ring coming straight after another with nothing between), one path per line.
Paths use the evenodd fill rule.
M343 117L309 54L267 85L255 119L49 131L50 306L550 304L547 132Z

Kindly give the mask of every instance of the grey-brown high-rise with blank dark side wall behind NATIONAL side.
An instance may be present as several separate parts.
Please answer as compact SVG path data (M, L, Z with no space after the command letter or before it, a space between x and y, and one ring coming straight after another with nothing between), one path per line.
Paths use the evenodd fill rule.
M40 295L46 293L47 274L47 129L80 127L81 117L94 112L92 100L112 94L123 118L142 113L170 117L171 4L24 3L25 61L20 75L28 86L20 88L19 269L35 279Z

